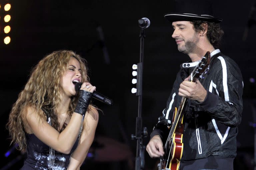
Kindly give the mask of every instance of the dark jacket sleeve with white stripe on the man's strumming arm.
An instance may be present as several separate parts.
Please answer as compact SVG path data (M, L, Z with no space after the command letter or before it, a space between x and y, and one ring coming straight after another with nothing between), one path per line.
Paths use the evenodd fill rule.
M150 134L150 138L158 134L163 141L166 140L170 131L168 126L172 123L173 112L178 102L178 93L175 90L177 89L177 85L179 86L176 79L173 84L172 92L167 100L166 108L163 110L162 116L158 118L158 123L154 126L153 131Z

